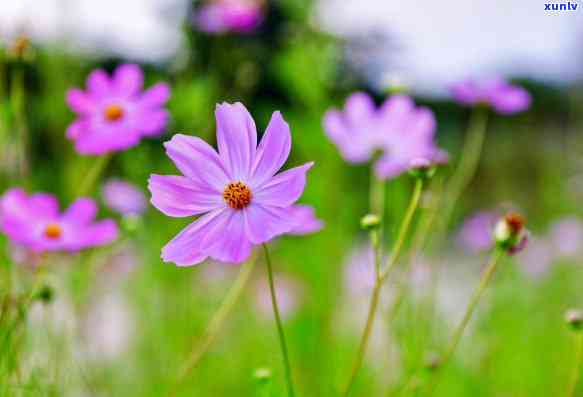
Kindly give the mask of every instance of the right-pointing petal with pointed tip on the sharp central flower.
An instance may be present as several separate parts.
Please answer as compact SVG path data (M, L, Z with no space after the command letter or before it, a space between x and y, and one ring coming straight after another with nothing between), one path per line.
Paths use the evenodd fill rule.
M277 174L254 191L253 201L264 206L283 208L291 206L304 192L306 173L313 165L314 163L310 162Z

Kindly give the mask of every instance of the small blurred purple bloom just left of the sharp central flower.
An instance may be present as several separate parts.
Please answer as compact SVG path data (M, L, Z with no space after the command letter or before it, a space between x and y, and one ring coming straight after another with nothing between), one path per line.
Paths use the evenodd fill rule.
M103 201L121 215L140 215L146 210L146 196L131 183L110 179L103 185Z

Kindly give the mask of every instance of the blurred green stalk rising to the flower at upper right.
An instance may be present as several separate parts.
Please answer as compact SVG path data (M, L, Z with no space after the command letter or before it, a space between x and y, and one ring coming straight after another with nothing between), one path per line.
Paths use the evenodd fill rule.
M470 117L468 132L461 151L462 157L445 191L444 207L437 225L437 236L442 237L444 235L459 198L476 175L486 138L487 125L488 109L480 106L476 107Z

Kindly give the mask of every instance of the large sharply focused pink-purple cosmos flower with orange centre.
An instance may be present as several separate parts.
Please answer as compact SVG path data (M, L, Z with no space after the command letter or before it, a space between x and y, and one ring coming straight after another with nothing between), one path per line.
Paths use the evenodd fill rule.
M240 263L253 245L291 231L289 208L313 163L276 175L291 149L288 124L274 112L257 146L253 118L241 103L217 106L218 153L200 138L175 135L166 153L184 176L151 175L152 204L173 217L201 215L162 249L162 259L190 266L211 257Z

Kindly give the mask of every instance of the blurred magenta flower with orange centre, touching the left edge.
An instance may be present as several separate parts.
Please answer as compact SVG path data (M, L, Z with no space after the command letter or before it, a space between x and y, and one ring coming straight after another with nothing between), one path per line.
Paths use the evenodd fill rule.
M0 230L34 252L75 252L117 238L115 222L94 222L96 214L97 206L88 198L77 199L60 214L53 195L27 196L21 189L11 189L0 199Z

